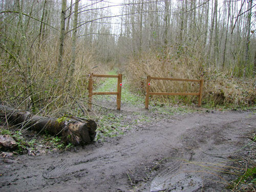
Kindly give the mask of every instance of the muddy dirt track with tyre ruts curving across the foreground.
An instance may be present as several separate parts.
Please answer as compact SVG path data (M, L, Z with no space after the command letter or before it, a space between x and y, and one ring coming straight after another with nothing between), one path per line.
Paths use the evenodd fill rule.
M1 159L0 191L228 191L234 177L220 168L249 153L233 154L250 141L255 119L252 112L170 116L76 152Z

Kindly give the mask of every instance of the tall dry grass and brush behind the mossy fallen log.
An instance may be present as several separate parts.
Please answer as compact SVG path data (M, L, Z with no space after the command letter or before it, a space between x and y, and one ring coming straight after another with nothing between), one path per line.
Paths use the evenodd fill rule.
M86 111L88 74L101 73L106 69L96 61L93 50L86 47L84 42L78 42L75 72L70 76L71 40L66 40L61 68L57 65L57 42L57 37L49 37L40 46L31 46L29 59L20 54L18 62L10 60L8 54L2 54L1 104L42 115Z

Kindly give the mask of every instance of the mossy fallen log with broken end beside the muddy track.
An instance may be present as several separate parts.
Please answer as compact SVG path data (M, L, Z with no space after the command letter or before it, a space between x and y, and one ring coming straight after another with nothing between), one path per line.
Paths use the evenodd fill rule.
M0 105L0 117L5 117L8 123L14 125L61 136L63 141L74 145L88 144L96 136L97 124L93 120L76 117L41 117L32 115L28 111L18 111L6 105Z

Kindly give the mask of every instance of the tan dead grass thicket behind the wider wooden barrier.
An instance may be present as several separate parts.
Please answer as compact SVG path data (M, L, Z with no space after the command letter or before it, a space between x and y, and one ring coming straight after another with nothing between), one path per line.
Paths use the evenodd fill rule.
M203 104L243 105L256 103L256 79L232 77L229 72L221 72L215 67L206 68L199 52L171 48L164 54L143 53L131 57L126 65L127 77L135 91L145 94L147 75L186 79L204 79ZM199 83L183 81L152 80L153 92L199 92ZM191 104L197 103L195 96L151 96L161 102Z

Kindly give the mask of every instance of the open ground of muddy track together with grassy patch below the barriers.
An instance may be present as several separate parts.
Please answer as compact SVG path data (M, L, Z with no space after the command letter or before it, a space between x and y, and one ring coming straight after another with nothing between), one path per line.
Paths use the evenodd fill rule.
M231 191L240 168L255 167L255 110L145 110L143 98L122 94L121 111L115 97L95 96L95 143L1 157L0 191Z

